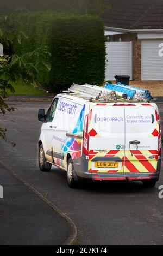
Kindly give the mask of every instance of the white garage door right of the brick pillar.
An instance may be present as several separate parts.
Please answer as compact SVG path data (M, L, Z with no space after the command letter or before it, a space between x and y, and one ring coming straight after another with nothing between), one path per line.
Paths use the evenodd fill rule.
M144 39L141 46L141 79L163 80L163 39Z

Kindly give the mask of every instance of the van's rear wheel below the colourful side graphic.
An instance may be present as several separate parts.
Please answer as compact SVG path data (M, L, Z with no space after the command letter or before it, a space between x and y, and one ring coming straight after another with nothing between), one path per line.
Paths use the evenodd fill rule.
M70 188L76 188L79 183L79 178L74 171L73 162L70 158L67 163L67 183Z

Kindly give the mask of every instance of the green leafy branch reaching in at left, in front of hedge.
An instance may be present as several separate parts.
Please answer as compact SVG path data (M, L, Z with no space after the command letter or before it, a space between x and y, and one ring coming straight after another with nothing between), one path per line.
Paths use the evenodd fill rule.
M0 114L5 114L6 111L14 111L14 108L9 108L5 99L8 98L7 89L14 92L13 84L29 84L39 86L37 75L43 68L47 72L51 70L51 65L48 59L51 53L47 48L39 48L33 52L18 55L4 55L0 57ZM5 130L1 128L0 136L5 139Z

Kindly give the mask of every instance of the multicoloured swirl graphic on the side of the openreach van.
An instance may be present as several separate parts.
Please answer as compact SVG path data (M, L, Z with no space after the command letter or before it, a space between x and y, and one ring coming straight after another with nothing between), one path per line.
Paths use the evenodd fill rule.
M77 124L74 127L72 134L82 136L84 112L85 112L85 105L83 106L83 109L80 112ZM72 159L81 157L82 156L82 140L68 138L66 143L62 146L62 154L66 154L67 152L71 152Z

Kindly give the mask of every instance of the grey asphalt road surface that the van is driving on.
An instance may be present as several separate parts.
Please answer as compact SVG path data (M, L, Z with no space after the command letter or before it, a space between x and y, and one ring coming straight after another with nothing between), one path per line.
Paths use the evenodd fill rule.
M8 139L16 142L16 147L1 140L0 160L73 219L81 245L163 243L163 199L158 197L162 174L154 188L144 188L141 182L89 182L70 189L64 171L53 168L43 173L37 164L41 127L37 111L47 109L49 103L11 104L18 110L1 117L0 126L8 129ZM163 104L159 109L163 114Z

